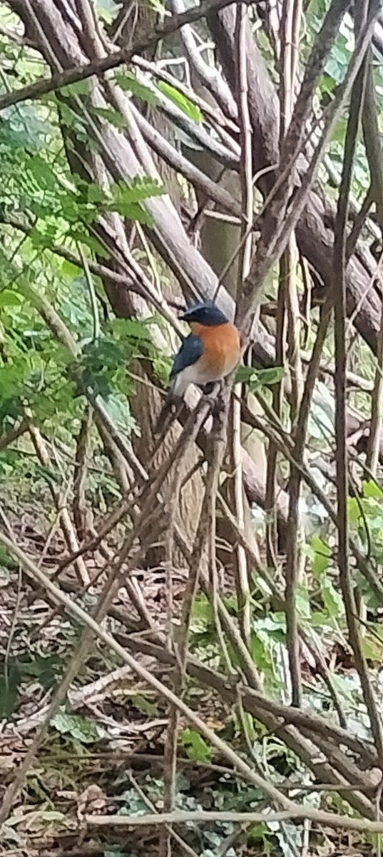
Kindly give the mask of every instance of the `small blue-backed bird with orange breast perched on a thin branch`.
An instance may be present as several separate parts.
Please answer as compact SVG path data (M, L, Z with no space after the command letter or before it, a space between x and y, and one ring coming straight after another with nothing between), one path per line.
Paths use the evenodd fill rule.
M189 384L203 386L226 378L240 358L239 331L213 301L186 309L180 321L187 321L192 333L174 357L168 402L182 399Z

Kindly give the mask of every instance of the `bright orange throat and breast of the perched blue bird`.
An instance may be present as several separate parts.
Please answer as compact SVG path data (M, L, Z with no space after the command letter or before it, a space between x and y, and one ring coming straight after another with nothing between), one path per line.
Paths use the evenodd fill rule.
M192 322L192 332L203 341L201 363L214 367L219 375L229 375L239 361L239 332L233 324L221 324L218 327L204 327Z

